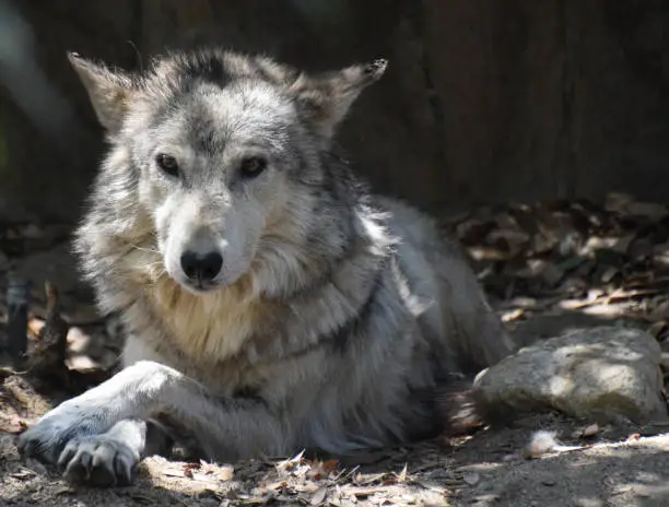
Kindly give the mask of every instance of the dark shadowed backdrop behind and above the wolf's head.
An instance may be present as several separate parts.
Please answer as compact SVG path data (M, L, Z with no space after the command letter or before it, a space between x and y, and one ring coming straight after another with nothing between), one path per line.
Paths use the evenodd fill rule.
M80 213L102 144L66 50L138 69L204 36L308 69L388 58L341 141L425 209L662 200L668 26L664 0L0 0L0 217Z

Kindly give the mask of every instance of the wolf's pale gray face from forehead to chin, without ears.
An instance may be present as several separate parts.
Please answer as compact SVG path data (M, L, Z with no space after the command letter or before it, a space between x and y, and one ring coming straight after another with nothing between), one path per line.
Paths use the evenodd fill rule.
M128 122L128 140L165 269L192 291L233 284L289 204L300 139L309 145L295 108L274 87L240 81L199 83L152 109Z

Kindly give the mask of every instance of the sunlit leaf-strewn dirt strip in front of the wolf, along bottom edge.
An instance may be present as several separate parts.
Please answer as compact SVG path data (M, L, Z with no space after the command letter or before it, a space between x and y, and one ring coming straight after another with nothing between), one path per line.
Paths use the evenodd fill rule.
M5 380L19 389L20 379ZM0 505L669 505L669 435L655 427L602 427L558 414L526 416L460 441L388 449L351 463L265 459L211 464L144 460L130 487L72 486L51 468L22 460L14 435L0 439ZM564 448L528 457L537 431ZM586 432L587 433L587 432Z

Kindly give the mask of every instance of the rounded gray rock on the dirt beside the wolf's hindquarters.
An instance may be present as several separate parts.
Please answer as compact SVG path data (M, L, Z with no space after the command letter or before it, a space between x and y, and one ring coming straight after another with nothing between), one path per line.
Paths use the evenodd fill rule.
M542 340L481 372L474 396L488 417L555 409L575 416L667 420L661 350L653 335L596 327Z

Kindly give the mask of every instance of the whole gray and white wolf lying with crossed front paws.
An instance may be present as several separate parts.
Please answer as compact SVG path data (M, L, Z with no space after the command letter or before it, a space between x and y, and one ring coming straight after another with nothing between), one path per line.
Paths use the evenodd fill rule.
M513 350L457 243L338 146L386 60L68 58L107 140L74 251L127 340L122 369L24 432L24 456L116 485L175 439L211 460L354 455L437 435L441 387Z

